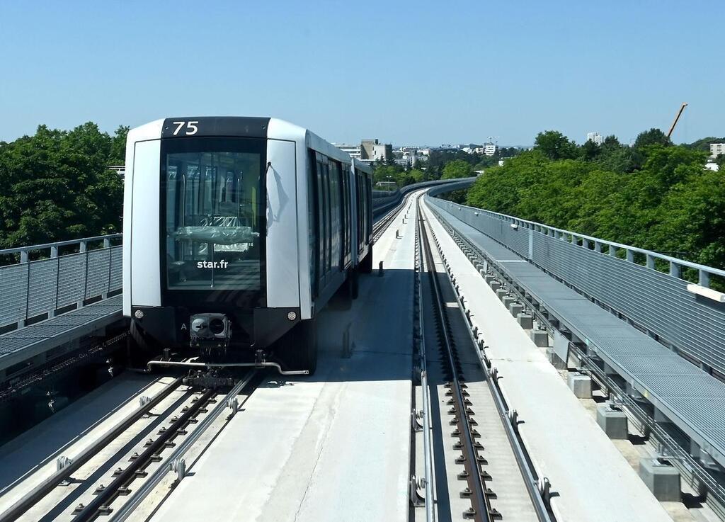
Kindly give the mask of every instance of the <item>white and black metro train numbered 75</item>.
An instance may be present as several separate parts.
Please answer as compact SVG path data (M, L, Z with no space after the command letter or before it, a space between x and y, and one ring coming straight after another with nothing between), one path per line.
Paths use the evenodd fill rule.
M370 167L269 117L141 125L125 165L136 353L313 373L318 313L336 293L349 304L373 267Z

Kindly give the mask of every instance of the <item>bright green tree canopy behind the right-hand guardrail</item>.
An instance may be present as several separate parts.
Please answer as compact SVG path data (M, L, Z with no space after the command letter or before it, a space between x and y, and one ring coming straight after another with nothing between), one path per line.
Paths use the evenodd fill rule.
M533 150L486 170L467 203L725 267L725 172L704 168L701 147L658 129L633 147L613 136L592 145L572 152L566 136L541 133Z

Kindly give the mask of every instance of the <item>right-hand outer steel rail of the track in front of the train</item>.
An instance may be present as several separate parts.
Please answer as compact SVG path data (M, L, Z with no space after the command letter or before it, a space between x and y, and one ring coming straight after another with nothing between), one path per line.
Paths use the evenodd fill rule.
M186 437L181 444L179 444L178 448L169 455L166 462L159 465L156 471L152 473L152 476L147 477L144 484L142 484L136 492L133 492L131 497L124 502L123 506L121 506L112 516L111 522L125 521L133 513L133 510L136 510L136 508L141 505L141 502L143 502L144 499L156 488L156 486L158 486L159 482L162 481L166 474L171 471L170 464L183 457L183 455L189 450L189 448L191 448L192 445L194 445L199 437L204 434L204 431L207 431L209 426L211 426L215 419L218 418L220 413L225 410L227 405L230 404L230 402L233 401L245 387L247 387L255 375L257 375L257 370L249 372L247 377L239 381L239 383L237 383L230 392L226 394L224 399L217 403L214 409L204 417L204 420L201 423L199 423L199 426L197 426L196 429L194 429L194 431L192 431L191 434Z

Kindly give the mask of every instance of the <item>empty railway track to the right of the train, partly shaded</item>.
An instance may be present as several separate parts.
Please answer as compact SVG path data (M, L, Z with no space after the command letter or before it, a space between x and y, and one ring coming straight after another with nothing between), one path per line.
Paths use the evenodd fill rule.
M486 365L483 343L472 329L444 255L432 247L437 240L420 199L416 218L419 293L427 294L418 315L423 411L416 416L426 425L424 442L428 436L431 441L423 448L424 477L417 479L411 495L416 489L424 499L418 505L426 505L426 522L455 520L456 510L475 521L550 521L542 495L547 481L537 481L529 467L515 432L515 410L505 404ZM440 270L442 265L446 271ZM438 450L428 465L434 460L428 455L431 447ZM411 500L416 505L413 496Z

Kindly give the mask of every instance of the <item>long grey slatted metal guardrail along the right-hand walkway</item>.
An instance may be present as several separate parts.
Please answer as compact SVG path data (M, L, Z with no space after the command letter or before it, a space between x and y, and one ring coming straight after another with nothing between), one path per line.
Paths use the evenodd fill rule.
M463 187L428 194L457 188ZM427 201L621 314L703 370L725 374L725 303L693 293L682 269L697 270L702 288L708 288L711 275L725 276L725 270L435 197ZM624 257L618 257L620 250ZM641 262L635 254L644 256ZM655 260L667 262L669 270L658 269Z

